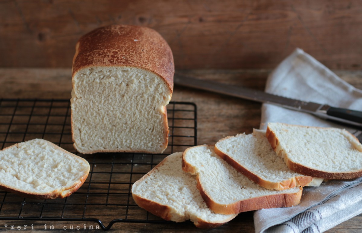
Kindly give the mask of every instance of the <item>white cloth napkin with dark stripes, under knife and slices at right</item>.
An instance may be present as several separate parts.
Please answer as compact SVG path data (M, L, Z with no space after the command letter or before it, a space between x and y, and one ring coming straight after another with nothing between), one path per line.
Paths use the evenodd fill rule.
M270 74L265 91L285 97L362 110L362 90L341 80L301 49L296 49ZM342 127L308 113L263 104L261 129L268 122L305 126ZM346 128L352 134L361 132ZM362 213L362 178L328 181L304 187L302 201L289 208L254 212L255 232L324 232Z

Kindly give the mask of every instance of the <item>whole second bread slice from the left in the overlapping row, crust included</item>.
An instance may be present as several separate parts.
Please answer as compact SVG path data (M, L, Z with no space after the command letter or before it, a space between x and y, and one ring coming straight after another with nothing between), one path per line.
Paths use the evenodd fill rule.
M252 182L214 152L213 145L186 149L182 169L197 175L197 187L216 213L233 214L300 203L302 187L269 190Z

